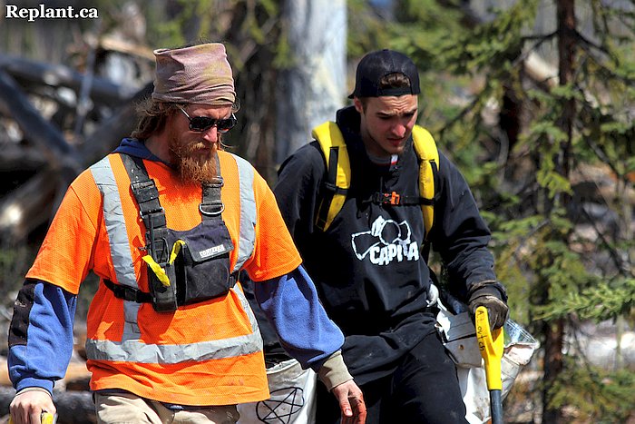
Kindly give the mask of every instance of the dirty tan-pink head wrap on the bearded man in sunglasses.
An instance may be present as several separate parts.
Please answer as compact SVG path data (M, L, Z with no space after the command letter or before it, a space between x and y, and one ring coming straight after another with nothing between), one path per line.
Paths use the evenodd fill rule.
M158 49L154 55L154 100L211 105L236 101L234 79L223 44Z

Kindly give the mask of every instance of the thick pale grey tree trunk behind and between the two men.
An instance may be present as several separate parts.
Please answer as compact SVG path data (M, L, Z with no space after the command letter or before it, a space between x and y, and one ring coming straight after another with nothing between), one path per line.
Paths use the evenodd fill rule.
M346 2L287 0L283 19L295 64L278 77L278 163L308 143L314 126L335 120L347 96Z

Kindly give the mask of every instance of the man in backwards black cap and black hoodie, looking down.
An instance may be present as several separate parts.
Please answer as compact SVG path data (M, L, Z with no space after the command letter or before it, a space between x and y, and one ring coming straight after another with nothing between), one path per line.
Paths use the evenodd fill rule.
M282 164L274 188L320 301L345 334L342 353L364 392L368 423L466 422L454 362L429 306L428 242L473 313L486 306L493 328L507 317L505 290L487 250L490 232L461 173L442 153L435 163L434 226L426 231L412 135L419 93L407 56L366 54L350 95L354 104L337 111L337 125L329 124L326 135L314 132L317 139L343 138L338 160L347 154L350 185L342 190L327 182L334 153L313 141ZM341 209L325 225L323 202L337 194L344 194ZM338 421L323 392L317 421Z

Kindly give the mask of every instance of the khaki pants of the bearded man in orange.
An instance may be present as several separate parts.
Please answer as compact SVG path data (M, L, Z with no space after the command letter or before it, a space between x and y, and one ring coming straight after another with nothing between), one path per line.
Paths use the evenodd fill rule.
M236 405L174 410L132 393L95 393L95 411L103 424L235 424L239 419Z

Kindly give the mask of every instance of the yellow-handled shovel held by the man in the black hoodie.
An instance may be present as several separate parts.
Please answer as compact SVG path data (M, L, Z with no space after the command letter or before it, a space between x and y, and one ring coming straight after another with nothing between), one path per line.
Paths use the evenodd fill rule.
M490 330L487 308L479 306L474 318L476 338L481 356L485 362L487 389L490 390L490 410L492 424L503 424L503 380L501 379L501 360L503 359L503 328Z

